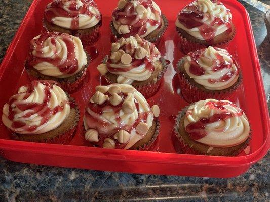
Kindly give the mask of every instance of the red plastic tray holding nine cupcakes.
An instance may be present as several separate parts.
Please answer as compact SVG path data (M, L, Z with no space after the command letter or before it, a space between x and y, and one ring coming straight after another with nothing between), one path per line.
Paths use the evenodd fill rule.
M79 92L71 96L81 108L81 120L76 134L69 145L53 145L11 140L11 136L0 123L0 150L4 158L25 163L51 166L84 168L106 171L121 171L145 174L165 174L206 177L233 177L247 171L268 151L269 115L260 74L254 37L250 19L245 8L237 1L224 0L224 5L232 11L233 22L237 28L235 39L230 43L228 51L239 61L243 71L244 84L236 102L247 114L251 128L252 140L250 153L238 157L215 157L191 154L177 154L173 147L172 132L174 116L181 108L188 105L179 94L178 82L173 66L183 54L176 48L175 19L177 13L191 1L156 0L162 12L169 20L169 27L160 42L159 49L163 56L171 61L158 93L148 102L158 104L161 108L161 133L154 151L133 151L103 149L89 147L81 135L82 118L85 104L100 84L100 75L96 66L109 53L109 22L117 0L96 0L103 15L101 38L94 47L87 51L98 53L88 68L89 82ZM28 53L30 40L44 31L42 27L43 11L49 1L34 0L22 24L14 37L0 67L0 108L8 101L19 86L29 83L24 70L24 60Z

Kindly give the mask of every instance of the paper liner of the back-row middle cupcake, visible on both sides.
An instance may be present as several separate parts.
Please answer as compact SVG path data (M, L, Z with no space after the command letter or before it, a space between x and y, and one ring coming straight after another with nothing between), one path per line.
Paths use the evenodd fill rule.
M145 36L144 39L151 42L151 43L154 43L155 45L158 45L163 34L165 33L168 25L169 25L169 22L166 18L166 16L164 14L161 14L161 17L164 21L164 27L159 31L159 33L156 35L156 36L153 36L153 37L150 37L150 36ZM119 38L121 38L120 34L117 32L117 30L114 28L114 25L113 25L113 22L111 21L110 22L110 29L111 29L111 32L114 36L114 39L115 41Z

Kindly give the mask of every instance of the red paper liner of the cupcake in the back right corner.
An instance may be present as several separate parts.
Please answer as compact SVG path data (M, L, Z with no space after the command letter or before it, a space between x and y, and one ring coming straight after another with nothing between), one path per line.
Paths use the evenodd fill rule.
M226 41L224 41L222 43L218 43L218 44L206 45L206 44L200 44L200 43L196 43L196 42L193 42L191 40L188 40L177 29L176 29L176 31L178 32L178 39L179 39L178 48L184 54L187 54L187 53L189 53L191 51L197 51L197 50L200 50L200 49L203 49L203 48L207 48L209 46L226 49L229 42L232 41L234 39L235 35L236 35L236 28L235 28L234 34L229 40L226 40Z

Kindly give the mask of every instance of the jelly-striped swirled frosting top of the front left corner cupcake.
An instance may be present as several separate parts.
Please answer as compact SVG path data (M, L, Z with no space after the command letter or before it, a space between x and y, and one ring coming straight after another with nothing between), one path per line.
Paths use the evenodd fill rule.
M10 97L2 121L15 133L41 134L60 126L69 113L69 99L56 82L35 80Z

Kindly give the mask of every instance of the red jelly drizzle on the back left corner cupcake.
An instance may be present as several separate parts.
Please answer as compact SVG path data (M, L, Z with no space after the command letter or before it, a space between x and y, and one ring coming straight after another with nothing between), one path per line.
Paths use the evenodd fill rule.
M63 8L66 5L66 2L70 2L69 7L67 8L70 10L69 12L64 10ZM97 8L96 3L93 0L81 0L83 6L78 5L76 0L57 0L53 1L50 5L47 5L44 13L44 17L49 22L53 22L53 18L55 17L65 17L65 18L72 18L70 29L77 30L79 28L79 15L88 15L90 17L95 16L98 20L101 19L101 15L92 13L88 8L90 6Z

